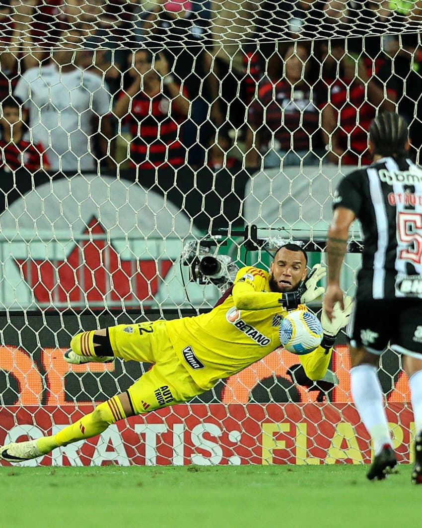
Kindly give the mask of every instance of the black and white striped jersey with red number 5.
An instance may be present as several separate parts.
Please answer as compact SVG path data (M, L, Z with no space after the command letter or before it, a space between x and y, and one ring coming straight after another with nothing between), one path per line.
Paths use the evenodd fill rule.
M357 298L422 298L422 168L385 157L343 178L333 208L352 210L365 248Z

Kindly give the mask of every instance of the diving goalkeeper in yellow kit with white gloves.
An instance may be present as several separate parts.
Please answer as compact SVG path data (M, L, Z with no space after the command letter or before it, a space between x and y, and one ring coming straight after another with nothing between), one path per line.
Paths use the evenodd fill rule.
M0 458L19 462L52 449L99 435L112 423L135 414L183 403L211 389L280 346L279 326L288 310L320 296L325 270L307 274L305 251L286 244L275 254L270 272L255 267L238 271L234 285L208 313L175 320L117 325L82 332L64 354L68 363L113 361L120 357L154 363L126 392L100 403L93 412L56 435L8 444ZM306 375L319 380L327 371L335 336L346 324L351 299L337 305L332 322L322 315L321 345L300 360Z

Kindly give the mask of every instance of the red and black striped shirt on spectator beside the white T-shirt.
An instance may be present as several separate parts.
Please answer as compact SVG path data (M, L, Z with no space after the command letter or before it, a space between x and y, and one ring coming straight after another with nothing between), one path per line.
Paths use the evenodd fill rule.
M186 94L184 94L186 97ZM185 163L185 148L180 140L183 116L164 93L150 98L138 93L132 100L132 109L126 118L132 140L130 162L133 167L180 167Z

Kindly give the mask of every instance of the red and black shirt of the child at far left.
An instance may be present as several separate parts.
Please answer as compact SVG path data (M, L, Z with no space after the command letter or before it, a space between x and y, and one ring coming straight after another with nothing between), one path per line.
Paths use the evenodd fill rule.
M33 145L24 139L17 144L7 143L5 139L0 138L0 153L0 168L6 172L17 171L22 167L30 172L36 172L40 167L49 168L44 148L39 143Z

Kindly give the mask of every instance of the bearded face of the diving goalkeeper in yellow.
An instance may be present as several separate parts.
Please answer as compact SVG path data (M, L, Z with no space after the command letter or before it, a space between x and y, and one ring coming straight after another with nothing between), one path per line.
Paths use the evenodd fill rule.
M302 251L281 248L270 267L271 291L294 291L306 277L306 260Z

